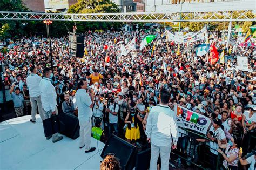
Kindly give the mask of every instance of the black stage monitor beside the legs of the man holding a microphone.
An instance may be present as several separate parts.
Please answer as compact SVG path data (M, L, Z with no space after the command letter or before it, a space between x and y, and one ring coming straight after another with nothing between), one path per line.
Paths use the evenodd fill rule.
M59 114L59 126L59 133L71 139L77 139L79 137L79 120L75 115L66 113Z

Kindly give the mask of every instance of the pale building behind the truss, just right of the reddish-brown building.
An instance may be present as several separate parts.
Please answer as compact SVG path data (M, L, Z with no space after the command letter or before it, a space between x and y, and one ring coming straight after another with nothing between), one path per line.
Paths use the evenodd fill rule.
M48 10L67 11L71 5L76 4L77 0L49 0Z

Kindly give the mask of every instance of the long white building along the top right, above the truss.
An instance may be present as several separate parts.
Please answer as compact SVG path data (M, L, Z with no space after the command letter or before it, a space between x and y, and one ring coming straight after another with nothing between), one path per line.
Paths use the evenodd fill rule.
M146 12L255 10L255 0L146 0Z

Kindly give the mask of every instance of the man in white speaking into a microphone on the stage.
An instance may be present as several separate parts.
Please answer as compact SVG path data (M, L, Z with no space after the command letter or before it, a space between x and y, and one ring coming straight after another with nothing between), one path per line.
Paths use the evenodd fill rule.
M78 81L78 90L75 98L78 107L78 120L80 125L80 146L82 149L85 146L85 153L95 151L95 147L91 147L91 133L92 133L92 107L93 107L93 91L87 93L88 83L85 78Z

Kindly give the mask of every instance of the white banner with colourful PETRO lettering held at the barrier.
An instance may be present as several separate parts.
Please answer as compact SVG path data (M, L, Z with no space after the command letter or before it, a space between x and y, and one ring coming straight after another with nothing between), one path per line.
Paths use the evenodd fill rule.
M174 105L178 126L206 135L211 120L204 115Z

